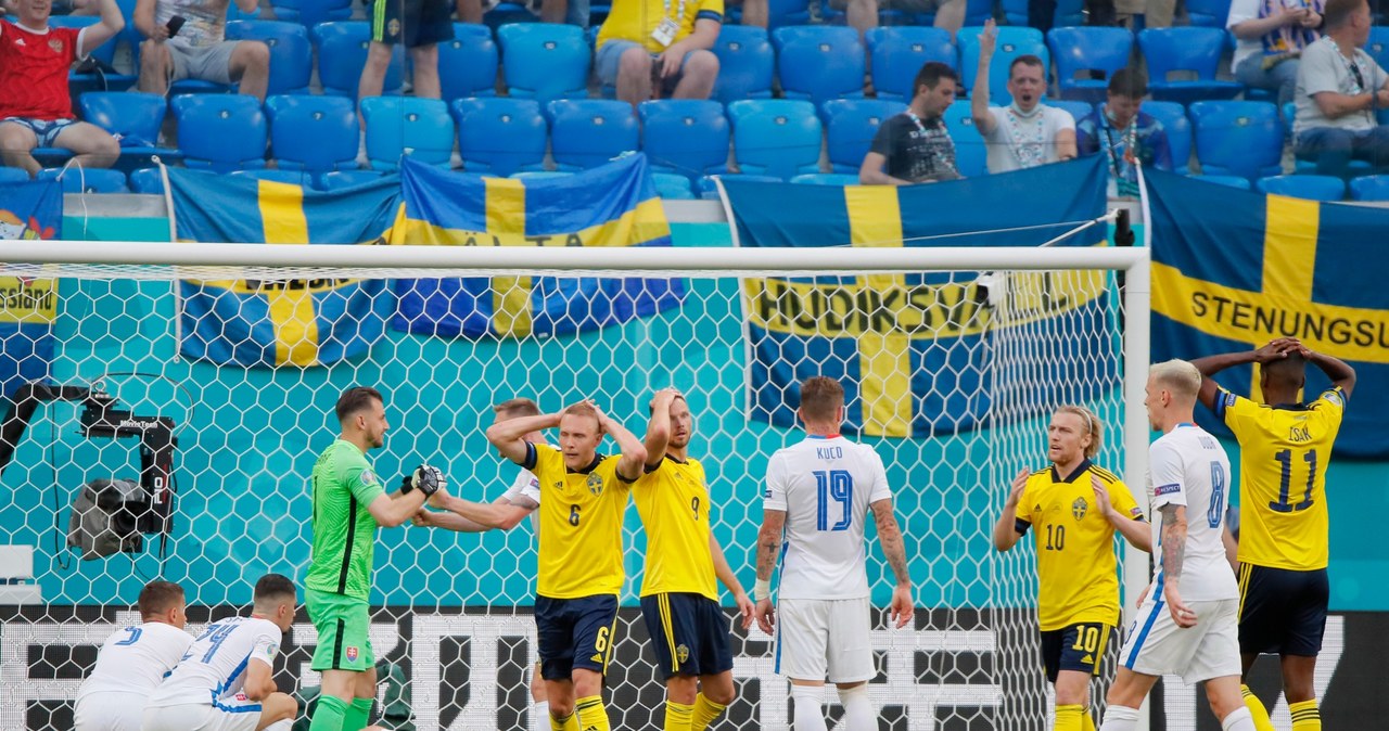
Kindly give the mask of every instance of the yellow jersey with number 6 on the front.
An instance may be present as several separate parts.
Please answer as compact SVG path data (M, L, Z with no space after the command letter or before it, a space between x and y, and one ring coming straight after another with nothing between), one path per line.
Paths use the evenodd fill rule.
M597 455L588 467L569 470L554 447L531 445L531 463L522 466L540 481L540 596L622 591L622 512L632 485L617 474L619 459Z

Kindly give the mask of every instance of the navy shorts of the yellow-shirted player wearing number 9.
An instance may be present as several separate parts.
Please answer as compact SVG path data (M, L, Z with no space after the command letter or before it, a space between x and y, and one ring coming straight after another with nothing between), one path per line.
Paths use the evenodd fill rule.
M717 676L733 669L728 617L701 594L642 596L642 619L656 649L661 680L671 676Z

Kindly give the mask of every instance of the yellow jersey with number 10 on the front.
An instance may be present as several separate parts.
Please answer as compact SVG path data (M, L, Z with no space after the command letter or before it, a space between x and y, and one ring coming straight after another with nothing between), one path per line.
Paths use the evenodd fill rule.
M1143 517L1128 485L1089 459L1061 479L1056 467L1032 473L1018 498L1020 533L1033 530L1038 547L1038 621L1042 631L1081 621L1120 623L1114 526L1095 506L1090 474L1104 483L1114 509Z

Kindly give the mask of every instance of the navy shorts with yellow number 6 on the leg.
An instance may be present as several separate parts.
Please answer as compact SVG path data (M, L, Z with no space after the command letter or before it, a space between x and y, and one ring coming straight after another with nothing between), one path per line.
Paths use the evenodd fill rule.
M574 669L607 673L617 639L617 596L535 598L540 677L569 680Z

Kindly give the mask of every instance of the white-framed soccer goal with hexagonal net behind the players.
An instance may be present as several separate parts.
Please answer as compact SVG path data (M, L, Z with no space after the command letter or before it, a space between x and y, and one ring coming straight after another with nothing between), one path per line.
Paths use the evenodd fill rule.
M368 455L386 484L429 462L474 501L515 477L483 437L494 404L593 398L640 434L651 393L681 388L715 535L750 590L763 470L800 438L795 384L840 379L846 431L886 462L915 588L914 626L875 614L871 633L871 695L895 730L1047 728L1031 538L1000 555L990 528L1011 476L1046 466L1054 406L1099 413L1096 462L1143 485L1142 248L0 251L8 308L29 308L6 352L31 348L21 366L42 377L15 391L0 431L0 544L33 556L28 570L7 562L3 578L42 595L0 608L0 728L69 728L96 645L136 621L150 578L185 587L193 631L244 608L267 571L301 581L307 477L349 386L386 397L390 429ZM632 509L625 541L608 709L614 728L653 728L664 689L636 608L646 540ZM379 723L535 727L531 524L383 528L375 566ZM1122 566L1132 603L1147 560ZM878 548L868 576L885 606ZM724 603L732 623L726 592ZM318 684L315 641L301 617L282 688ZM789 727L771 638L738 627L733 656L739 695L720 727Z

